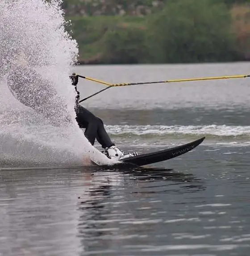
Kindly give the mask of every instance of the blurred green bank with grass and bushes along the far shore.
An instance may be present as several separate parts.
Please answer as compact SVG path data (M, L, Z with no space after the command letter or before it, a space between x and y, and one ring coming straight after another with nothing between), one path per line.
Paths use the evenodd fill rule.
M199 4L200 3L200 4ZM75 16L79 63L234 61L250 54L250 7L176 0L157 13Z

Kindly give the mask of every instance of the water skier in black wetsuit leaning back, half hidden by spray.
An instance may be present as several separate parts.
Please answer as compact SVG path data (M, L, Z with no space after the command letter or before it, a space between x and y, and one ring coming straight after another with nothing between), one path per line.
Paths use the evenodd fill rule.
M80 128L86 129L85 137L92 145L97 139L110 159L124 157L123 152L109 138L102 120L79 105L79 92L76 88L78 76L70 76L70 78L77 92L76 121ZM21 64L19 61L13 68L10 68L7 82L8 88L18 101L44 115L52 125L60 126L63 121L69 122L67 107L62 104L51 82L42 78L33 68L28 67L23 59Z

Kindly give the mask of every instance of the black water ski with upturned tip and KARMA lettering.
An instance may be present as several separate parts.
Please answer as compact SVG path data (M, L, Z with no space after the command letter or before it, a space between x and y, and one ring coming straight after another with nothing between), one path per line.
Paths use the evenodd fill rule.
M188 151L191 151L192 149L194 149L195 147L200 145L200 143L202 143L204 141L204 138L205 137L199 138L193 142L190 142L190 143L178 146L178 147L172 147L172 148L168 148L165 150L156 151L153 153L131 156L131 157L120 160L121 161L120 164L121 165L134 164L137 166L142 166L142 165L146 165L146 164L154 164L157 162L175 158L179 155L183 155L183 154L187 153Z

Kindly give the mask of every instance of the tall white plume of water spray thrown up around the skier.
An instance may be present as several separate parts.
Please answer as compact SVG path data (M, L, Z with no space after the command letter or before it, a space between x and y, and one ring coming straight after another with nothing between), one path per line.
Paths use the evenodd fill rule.
M75 89L69 74L78 57L78 46L65 29L61 4L61 0L0 1L1 162L79 165L91 156L109 163L90 145L75 121ZM12 96L6 76L18 61L51 82L58 100L49 110L53 113L59 104L66 105L64 114L71 121L53 127Z

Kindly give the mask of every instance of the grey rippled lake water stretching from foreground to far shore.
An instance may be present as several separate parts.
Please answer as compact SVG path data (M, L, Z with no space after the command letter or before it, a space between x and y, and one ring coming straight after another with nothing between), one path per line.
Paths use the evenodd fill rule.
M247 62L109 65L74 71L122 83L248 74L249 67ZM82 98L102 88L79 81ZM178 158L125 170L75 164L74 157L63 155L65 148L46 145L50 156L68 157L67 165L58 161L52 168L41 148L34 151L33 137L16 152L16 133L6 126L13 143L3 144L8 161L1 151L6 154L0 171L0 256L249 255L250 78L110 88L83 106L103 119L125 151L206 139ZM45 141L49 131L41 133L36 131ZM29 161L18 158L21 153Z

